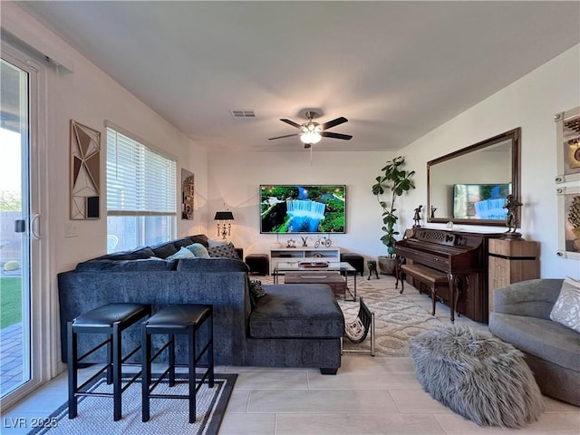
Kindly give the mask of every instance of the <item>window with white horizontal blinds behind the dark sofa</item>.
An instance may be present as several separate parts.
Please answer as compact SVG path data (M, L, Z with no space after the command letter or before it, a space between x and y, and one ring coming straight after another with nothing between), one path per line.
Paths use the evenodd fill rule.
M177 162L107 128L108 251L174 237Z

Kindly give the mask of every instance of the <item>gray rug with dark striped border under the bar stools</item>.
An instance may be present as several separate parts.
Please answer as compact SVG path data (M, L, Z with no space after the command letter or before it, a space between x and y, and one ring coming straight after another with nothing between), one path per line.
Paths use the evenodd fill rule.
M185 374L177 374L185 379ZM131 379L123 375L123 382ZM150 420L141 421L141 384L133 382L122 394L122 418L112 420L112 398L79 398L78 415L68 418L68 405L64 403L44 420L44 427L32 430L28 435L47 433L49 435L164 435L191 433L212 435L218 433L219 425L226 412L227 401L234 389L237 374L216 373L214 388L204 383L197 394L197 419L189 423L189 407L186 400L151 399ZM111 392L112 385L104 379L95 382L91 391ZM160 382L155 389L159 394L187 394L188 384L178 383L169 388L167 382Z

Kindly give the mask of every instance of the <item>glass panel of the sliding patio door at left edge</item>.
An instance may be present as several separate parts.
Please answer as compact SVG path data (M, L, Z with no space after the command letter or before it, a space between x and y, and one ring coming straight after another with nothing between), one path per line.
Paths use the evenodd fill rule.
M0 71L0 397L31 380L29 74Z

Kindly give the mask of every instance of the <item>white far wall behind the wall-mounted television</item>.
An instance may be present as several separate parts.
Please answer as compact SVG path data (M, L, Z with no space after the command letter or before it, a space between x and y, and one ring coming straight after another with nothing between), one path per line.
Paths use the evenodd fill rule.
M210 153L210 209L215 213L225 202L235 218L231 240L244 247L247 254L267 253L276 237L259 234L260 184L345 184L347 232L332 235L333 246L373 258L383 255L385 247L380 241L382 208L372 196L371 186L391 157L387 152L324 152L315 150L315 145L312 165L308 150ZM217 237L217 229L210 229L209 236ZM297 235L280 236L279 240L285 244L289 238L300 242ZM314 235L308 236L309 246L315 239Z

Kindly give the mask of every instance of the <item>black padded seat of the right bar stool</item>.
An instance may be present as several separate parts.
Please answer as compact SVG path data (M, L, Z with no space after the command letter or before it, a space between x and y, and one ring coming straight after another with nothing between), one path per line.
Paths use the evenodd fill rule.
M147 320L147 330L170 333L166 330L187 330L189 324L202 324L211 315L209 305L178 304L162 308ZM184 333L187 333L185 331Z

